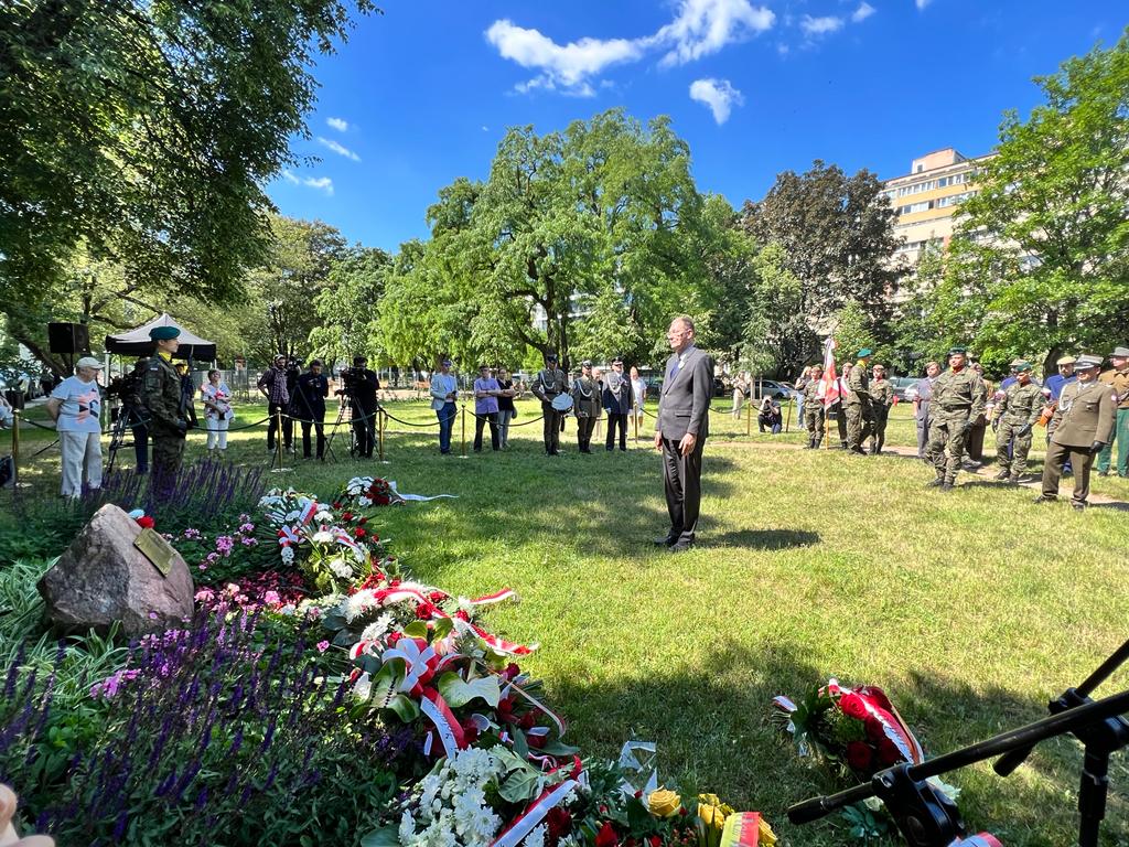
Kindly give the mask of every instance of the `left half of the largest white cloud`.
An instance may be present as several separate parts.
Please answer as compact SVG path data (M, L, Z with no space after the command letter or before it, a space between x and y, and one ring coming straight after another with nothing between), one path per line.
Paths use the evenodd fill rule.
M640 45L627 38L580 38L561 46L536 29L516 26L510 20L491 24L487 41L498 49L502 59L541 71L541 76L518 88L523 91L584 88L588 77L616 62L636 61L642 55Z

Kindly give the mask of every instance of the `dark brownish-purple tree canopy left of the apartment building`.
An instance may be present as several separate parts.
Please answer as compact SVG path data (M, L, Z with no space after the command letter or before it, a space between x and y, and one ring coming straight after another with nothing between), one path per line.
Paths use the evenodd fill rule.
M793 324L788 344L799 356L817 351L816 330L855 302L866 308L876 337L887 332L899 269L893 261L894 210L869 171L847 176L816 160L805 174L786 171L765 198L746 202L744 225L761 244L781 247L781 267L799 285L803 321Z

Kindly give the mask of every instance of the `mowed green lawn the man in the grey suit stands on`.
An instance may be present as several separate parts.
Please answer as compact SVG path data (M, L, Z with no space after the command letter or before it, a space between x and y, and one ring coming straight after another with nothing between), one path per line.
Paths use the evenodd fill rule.
M891 443L913 442L907 412L895 410ZM434 421L421 403L393 413ZM537 413L523 403L516 422ZM942 495L922 488L933 473L909 459L798 451L787 445L803 436L759 436L755 420L745 436L744 419L724 413L711 426L700 543L680 556L650 543L666 510L645 435L628 453L601 444L581 455L570 421L569 452L550 459L534 422L511 430L509 452L488 443L460 459L438 455L434 427L393 422L387 464L348 460L339 436L339 463L291 459L294 470L272 480L331 495L368 473L403 491L457 495L382 510L380 534L421 579L452 593L520 593L520 604L489 613L489 626L540 643L523 664L545 680L569 737L607 756L629 737L656 741L664 781L762 811L793 845L849 837L838 819L788 824L789 804L842 786L798 759L770 723L774 695L800 696L832 675L882 686L939 754L1041 717L1048 699L1129 636L1122 510L1040 507L1026 489L971 474ZM466 427L470 440L470 416ZM201 447L193 436L190 455ZM270 463L261 431L234 435L229 453ZM24 479L58 486L58 453L32 462ZM1094 490L1129 499L1124 480L1095 479ZM1120 671L1102 691L1127 681ZM1009 779L984 763L949 781L974 830L1057 847L1075 839L1080 760L1080 745L1060 740ZM1103 844L1129 842L1127 792L1122 753Z

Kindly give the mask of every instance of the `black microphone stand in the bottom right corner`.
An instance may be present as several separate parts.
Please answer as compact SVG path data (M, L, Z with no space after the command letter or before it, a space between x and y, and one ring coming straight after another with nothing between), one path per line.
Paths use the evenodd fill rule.
M1104 670L1108 675L1117 666L1117 663L1113 663L1114 657L1127 650L1129 650L1129 645L1111 656L1110 661L1103 664L1099 671ZM1106 723L1111 721L1115 722L1119 727L1129 730L1129 724L1118 717L1124 711L1129 711L1129 690L1101 700L1087 700L1059 714L1009 730L987 741L970 744L920 765L902 763L878 771L869 783L857 785L838 794L805 800L788 810L788 820L793 823L808 823L842 806L878 796L885 802L898 829L901 830L910 847L949 847L968 833L964 822L961 820L953 801L942 791L925 781L926 779L1003 753L1024 751L1023 754L1026 756L1040 741L1066 733L1075 733L1078 737L1087 736L1091 733L1101 735ZM1118 737L1110 739L1110 741L1117 741L1119 742L1118 746L1121 746L1129 741L1129 733L1119 730ZM1087 765L1091 765L1088 743L1086 751ZM1112 750L1104 751L1104 763L1108 763L1110 752ZM1087 792L1086 781L1087 777L1084 772L1083 792ZM1104 785L1101 786L1100 792L1094 789L1088 792L1087 797L1092 797L1092 800L1087 800L1088 803L1100 803L1100 807L1083 810L1078 845L1079 847L1096 847L1097 827L1105 811ZM1079 805L1082 804L1083 800L1079 797Z

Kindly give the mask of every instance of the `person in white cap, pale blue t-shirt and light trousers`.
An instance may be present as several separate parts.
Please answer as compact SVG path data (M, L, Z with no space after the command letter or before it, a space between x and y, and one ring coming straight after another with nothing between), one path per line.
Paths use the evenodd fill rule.
M98 372L102 363L84 356L68 376L51 392L47 414L55 421L62 452L63 497L82 495L82 478L93 490L102 488L102 392Z

